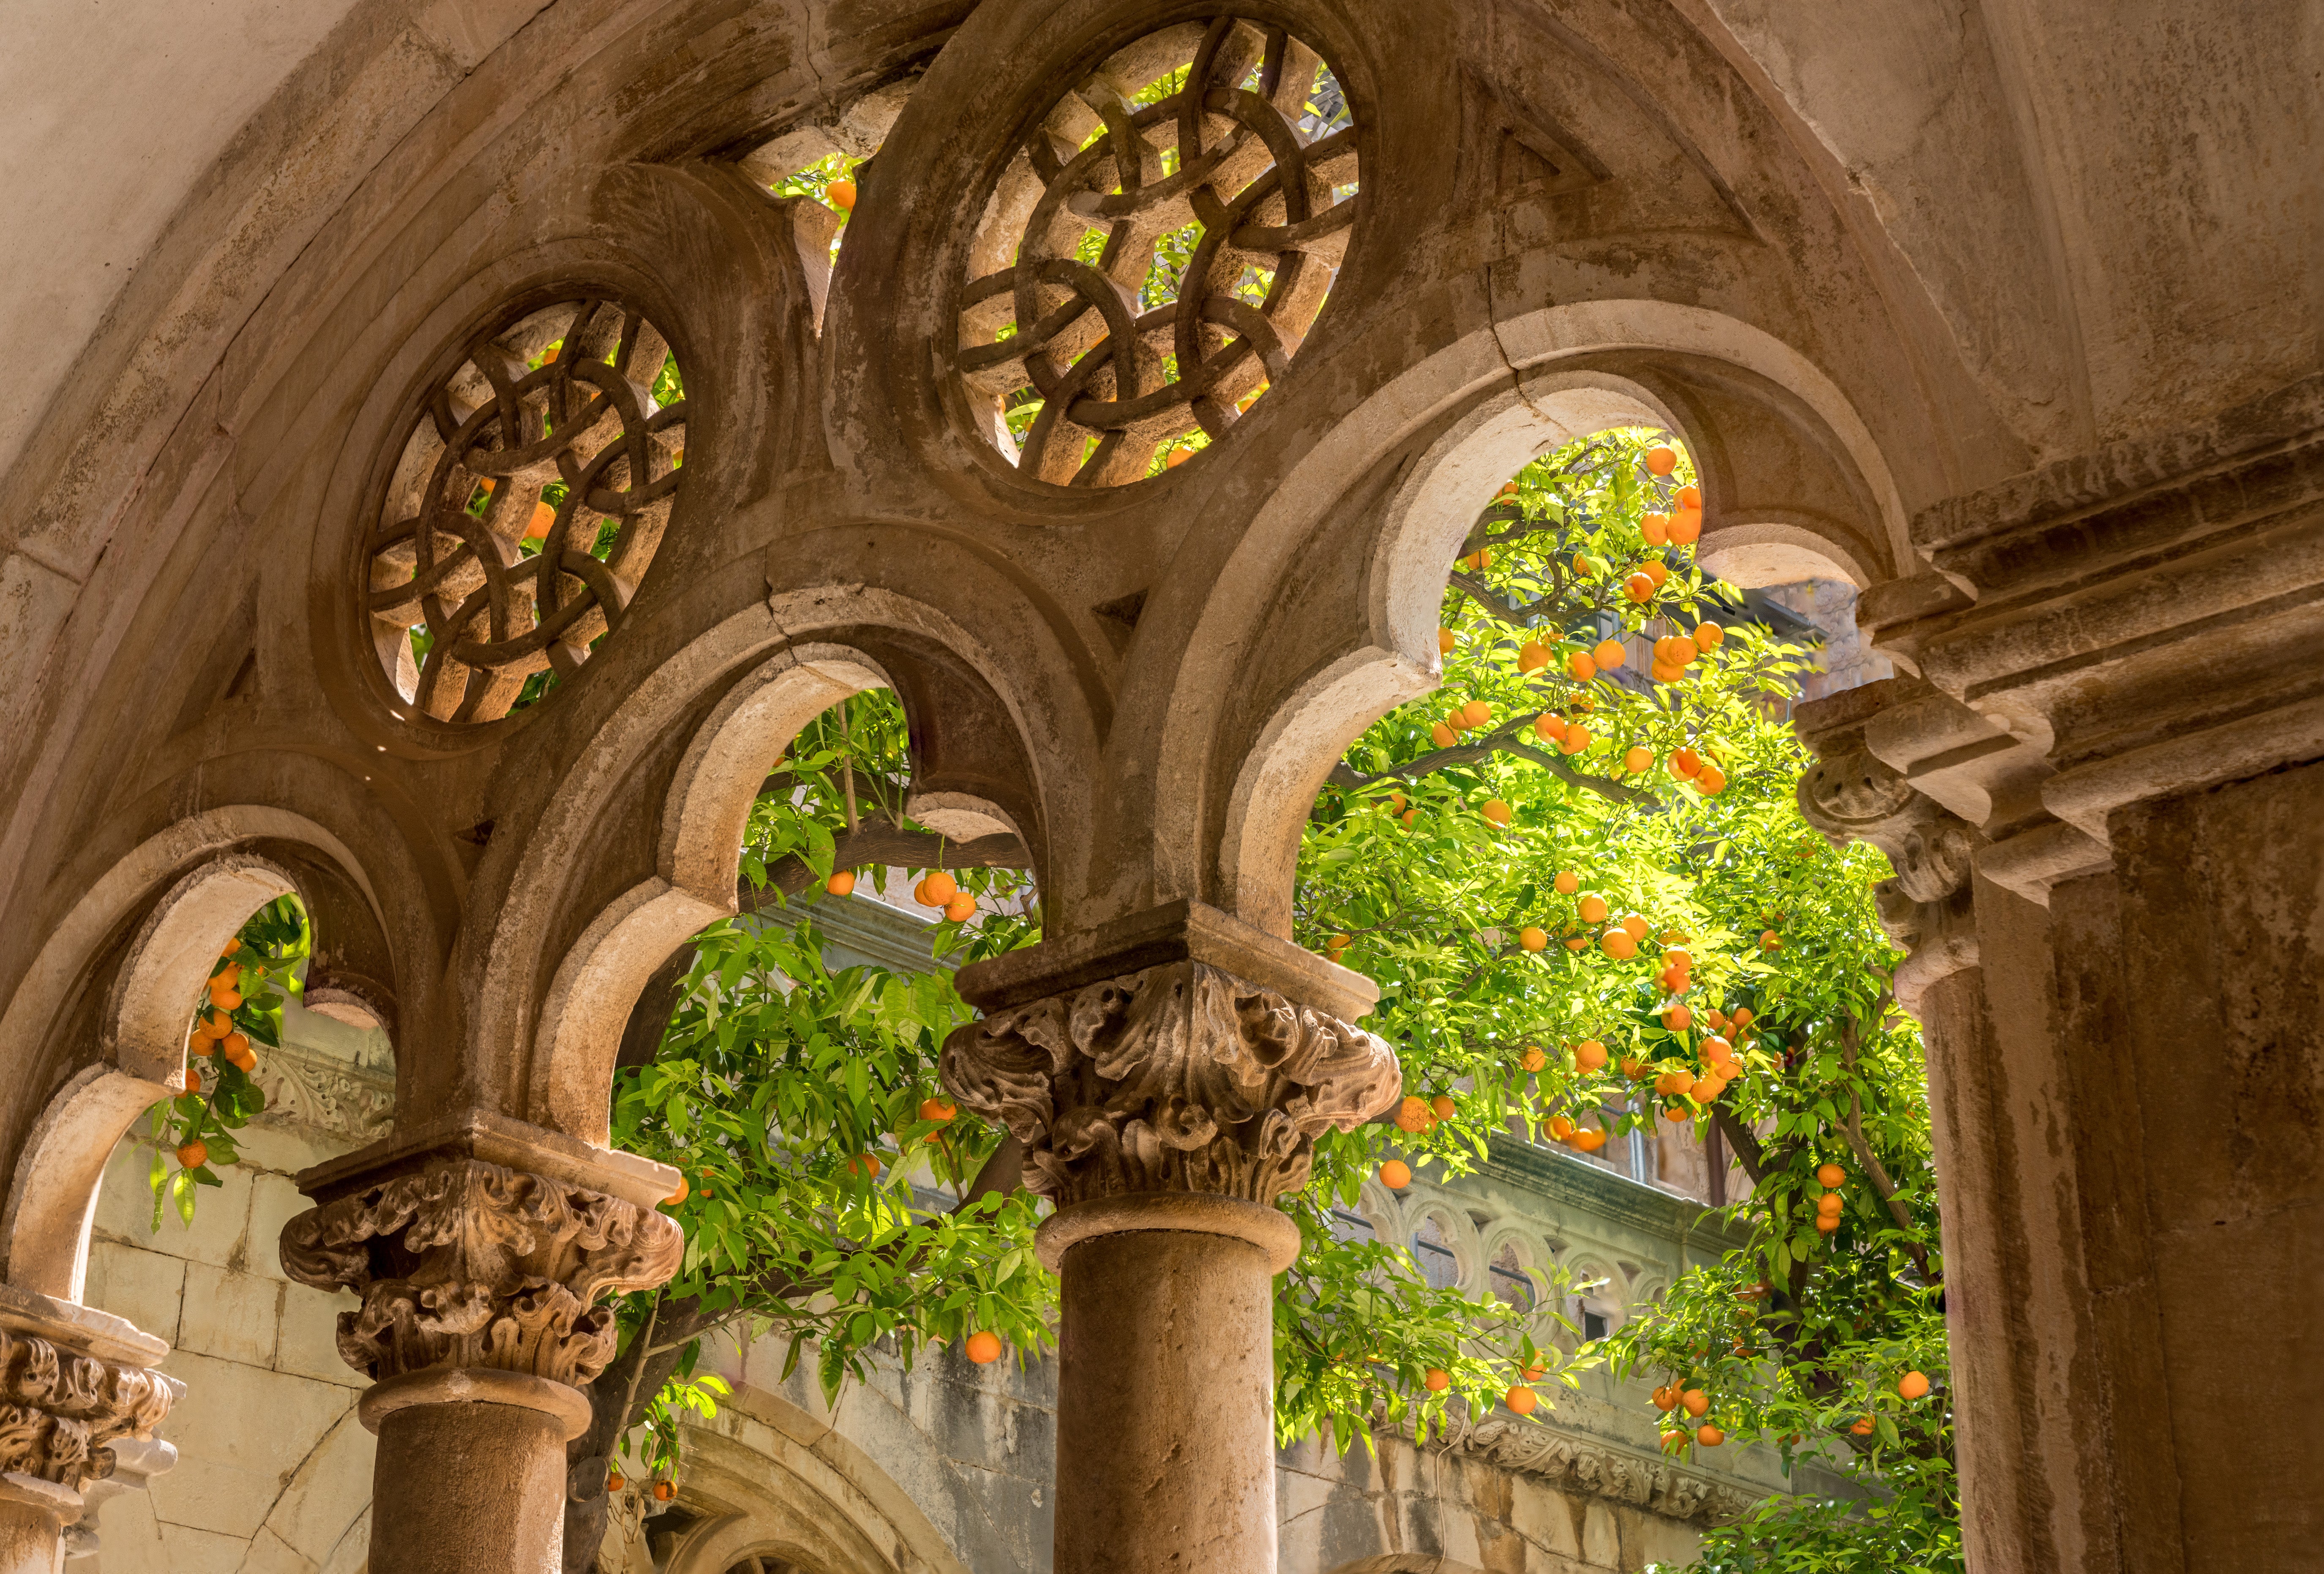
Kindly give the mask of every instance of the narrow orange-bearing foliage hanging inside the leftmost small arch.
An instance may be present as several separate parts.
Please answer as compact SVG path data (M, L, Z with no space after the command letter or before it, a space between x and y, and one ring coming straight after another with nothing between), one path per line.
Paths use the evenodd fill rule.
M284 1000L297 993L295 965L311 949L307 909L286 895L251 914L209 970L186 1025L188 1088L149 1114L153 1230L165 1207L191 1228L195 1188L225 1186L218 1167L242 1160L232 1132L267 1107L251 1079L256 1046L281 1049Z

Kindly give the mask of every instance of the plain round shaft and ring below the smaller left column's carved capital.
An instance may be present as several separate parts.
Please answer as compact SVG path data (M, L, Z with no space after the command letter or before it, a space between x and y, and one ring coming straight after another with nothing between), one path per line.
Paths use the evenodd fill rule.
M565 1439L588 1423L581 1390L516 1372L414 1372L370 1388L360 1416L379 1432L374 1569L562 1569Z

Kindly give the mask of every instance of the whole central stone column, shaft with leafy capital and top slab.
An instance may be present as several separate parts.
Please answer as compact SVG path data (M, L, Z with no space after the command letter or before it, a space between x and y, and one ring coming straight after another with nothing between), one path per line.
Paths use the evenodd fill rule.
M1271 1297L1299 1230L1269 1204L1318 1132L1401 1090L1346 1021L1367 981L1181 902L960 986L985 1018L946 1042L944 1083L1057 1202L1037 1242L1062 1302L1055 1574L1271 1572Z

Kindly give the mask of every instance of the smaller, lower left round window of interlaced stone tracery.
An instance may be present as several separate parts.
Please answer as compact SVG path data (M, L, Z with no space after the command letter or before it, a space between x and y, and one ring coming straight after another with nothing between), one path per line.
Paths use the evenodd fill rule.
M621 623L683 470L679 363L637 312L569 300L479 335L428 398L370 542L395 691L497 721Z

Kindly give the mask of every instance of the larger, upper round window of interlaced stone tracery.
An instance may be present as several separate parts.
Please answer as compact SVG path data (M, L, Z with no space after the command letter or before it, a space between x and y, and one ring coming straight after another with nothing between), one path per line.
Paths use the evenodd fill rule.
M1355 186L1339 79L1283 28L1129 44L1032 128L976 228L957 370L978 421L1074 486L1220 437L1322 309Z

